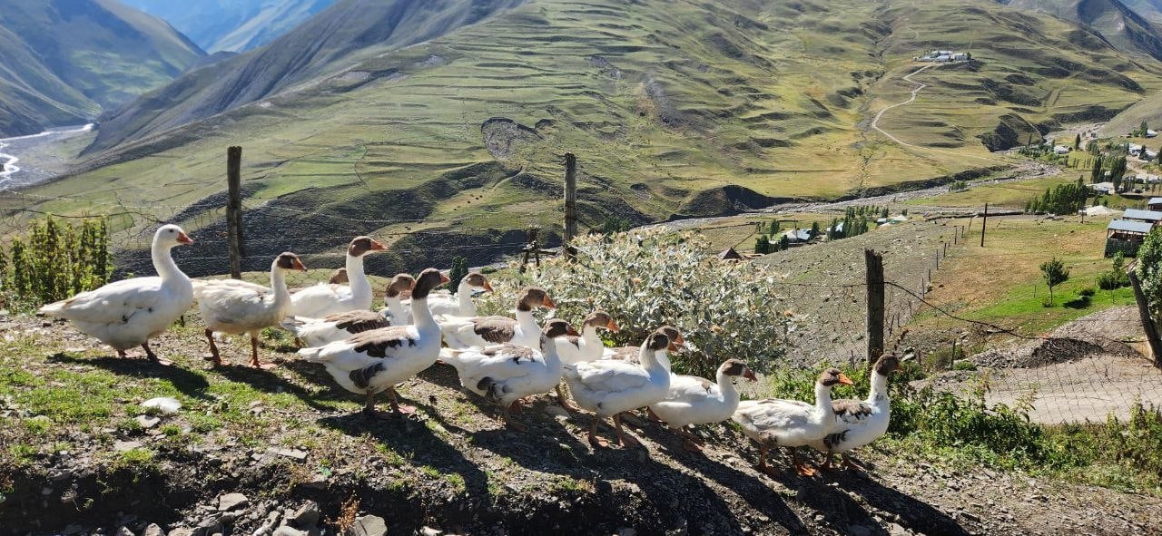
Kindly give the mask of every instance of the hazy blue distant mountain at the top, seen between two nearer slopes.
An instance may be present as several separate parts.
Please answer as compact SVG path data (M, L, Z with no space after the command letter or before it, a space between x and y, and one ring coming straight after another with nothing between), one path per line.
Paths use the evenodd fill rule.
M209 51L256 49L297 27L335 0L124 0L165 19Z

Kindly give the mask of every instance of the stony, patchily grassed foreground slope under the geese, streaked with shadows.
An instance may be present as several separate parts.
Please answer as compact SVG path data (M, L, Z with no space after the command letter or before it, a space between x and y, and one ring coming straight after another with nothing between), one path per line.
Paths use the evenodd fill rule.
M703 452L634 421L644 449L594 449L587 415L538 400L510 432L435 367L413 418L368 420L279 341L272 371L208 370L191 318L159 367L60 324L0 319L0 534L1159 534L1162 500L964 468L885 441L868 475L753 469L726 426ZM236 362L245 347L223 345ZM172 397L174 413L142 410ZM608 428L607 435L608 435Z

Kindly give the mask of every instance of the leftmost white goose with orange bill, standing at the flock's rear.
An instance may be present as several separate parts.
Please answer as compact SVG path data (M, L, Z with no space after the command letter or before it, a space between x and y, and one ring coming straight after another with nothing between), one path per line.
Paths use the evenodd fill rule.
M113 282L48 304L41 313L71 321L77 331L112 346L121 357L139 346L151 361L170 364L153 354L149 339L164 333L194 302L193 283L170 256L173 247L193 242L181 227L163 225L150 246L156 277Z

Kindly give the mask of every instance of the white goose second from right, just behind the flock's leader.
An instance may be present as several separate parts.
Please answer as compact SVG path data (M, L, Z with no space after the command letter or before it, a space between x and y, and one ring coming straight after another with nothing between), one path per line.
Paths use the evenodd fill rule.
M815 383L815 405L799 400L744 400L731 417L743 427L743 433L759 443L759 470L773 473L767 465L767 449L787 447L791 451L791 464L799 476L810 477L815 469L802 463L798 448L819 441L839 428L839 419L831 407L831 389L851 385L852 381L839 371L827 369Z

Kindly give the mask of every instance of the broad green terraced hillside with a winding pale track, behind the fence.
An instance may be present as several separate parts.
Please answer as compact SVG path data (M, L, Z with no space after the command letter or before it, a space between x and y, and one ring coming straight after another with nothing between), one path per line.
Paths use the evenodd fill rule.
M871 130L878 110L916 87L902 80L918 66L912 57L934 48L974 59L913 77L927 85L916 102L877 122L903 144ZM224 149L242 144L248 207L265 211L248 225L282 238L256 245L254 255L333 248L337 239L302 237L372 231L429 233L401 240L400 252L507 244L528 223L559 219L566 151L581 162L587 225L609 213L638 223L726 213L1005 166L985 145L1110 117L1159 87L1160 73L1088 30L983 0L675 1L666 9L531 0L119 144L84 173L31 193L196 203L179 219L216 231L220 216L199 216L221 207Z

